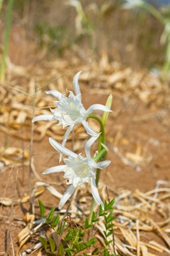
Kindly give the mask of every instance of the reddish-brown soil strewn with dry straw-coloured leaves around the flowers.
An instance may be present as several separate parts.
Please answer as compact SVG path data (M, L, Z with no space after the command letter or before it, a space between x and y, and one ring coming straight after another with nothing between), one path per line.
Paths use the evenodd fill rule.
M18 55L17 49L17 56L11 57L12 63L17 62ZM44 92L72 90L73 76L79 70L83 70L79 85L85 108L95 103L105 104L108 96L113 96L112 113L105 126L108 159L112 163L101 172L99 191L102 199L116 197L116 245L139 245L141 254L134 249L129 249L131 253L134 250L134 254L119 252L121 255L169 255L170 94L167 84L146 70L110 63L105 53L100 61L90 58L84 61L73 53L50 61L42 56L39 61L34 58L32 65L25 59L24 65L21 59L19 66L8 64L7 80L1 84L0 255L5 252L17 255L19 247L23 252L38 243L38 234L34 234L22 246L23 234L19 232L29 223L32 230L33 219L40 218L38 199L48 210L52 206L57 209L58 198L48 190L48 185L60 193L67 188L62 174L42 175L46 168L58 165L58 154L50 146L48 137L61 141L64 132L53 122L32 125L31 121L35 115L47 113L48 108L54 106L52 97ZM98 129L97 123L91 125ZM67 146L82 152L86 139L83 128L77 127ZM93 152L95 150L94 146ZM43 184L38 186L40 181ZM89 188L77 190L77 195L71 201L71 209L78 211L79 204L85 216L91 201ZM31 220L26 213L32 214ZM136 235L138 229L140 238ZM134 238L128 238L130 232ZM150 254L146 251L144 254L147 249Z

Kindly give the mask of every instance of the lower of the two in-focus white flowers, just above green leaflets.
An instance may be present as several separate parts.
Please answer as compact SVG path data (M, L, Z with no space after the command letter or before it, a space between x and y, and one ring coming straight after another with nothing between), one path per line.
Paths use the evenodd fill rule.
M65 154L68 156L68 158L64 158L65 165L54 166L43 172L43 174L65 172L64 177L68 180L67 184L71 185L67 191L65 191L64 195L62 195L58 205L59 208L62 208L71 195L73 195L76 187L83 185L84 183L90 183L93 198L97 204L101 204L103 207L103 202L101 201L97 186L95 184L95 168L103 169L110 164L110 161L106 160L103 162L95 162L93 158L91 158L90 148L96 139L97 137L91 137L87 141L85 144L86 157L83 157L81 154L77 155L54 139L49 138L49 141L55 150L57 150L60 154Z

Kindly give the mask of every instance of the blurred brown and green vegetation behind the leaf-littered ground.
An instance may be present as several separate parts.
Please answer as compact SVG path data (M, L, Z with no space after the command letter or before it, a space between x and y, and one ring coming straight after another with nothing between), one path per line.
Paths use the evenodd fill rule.
M1 7L1 46L7 2L2 1ZM169 21L170 1L145 2L151 3ZM14 0L9 41L11 61L29 63L32 56L28 53L36 48L52 58L73 51L85 59L92 55L97 59L105 52L110 61L161 69L166 58L168 26L165 28L146 8L127 9L124 3Z

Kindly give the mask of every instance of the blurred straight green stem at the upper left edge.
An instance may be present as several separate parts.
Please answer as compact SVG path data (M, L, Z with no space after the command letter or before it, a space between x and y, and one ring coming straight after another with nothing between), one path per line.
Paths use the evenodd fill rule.
M6 72L6 57L7 57L7 48L9 43L9 32L11 27L11 13L12 13L12 7L13 7L13 0L8 1L7 5L7 20L6 20L6 28L5 28L5 42L4 42L4 49L3 49L3 55L1 59L1 70L0 70L0 79L1 82L4 82L5 80L5 72Z

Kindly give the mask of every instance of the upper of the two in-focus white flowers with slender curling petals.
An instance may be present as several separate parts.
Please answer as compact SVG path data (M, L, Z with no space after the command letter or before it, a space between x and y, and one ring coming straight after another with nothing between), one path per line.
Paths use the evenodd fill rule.
M40 115L32 119L32 122L40 120L55 120L58 121L58 125L62 125L63 128L69 126L63 138L62 146L65 146L69 134L73 130L73 127L78 123L82 123L89 135L97 136L97 133L93 131L93 129L86 121L88 115L92 113L93 110L103 110L105 112L111 112L110 108L101 104L93 104L87 110L84 108L83 104L81 103L81 92L78 82L80 74L81 71L79 71L73 79L73 88L75 90L75 95L73 94L73 92L70 92L69 96L65 97L60 92L57 92L55 90L50 90L46 92L46 94L52 94L53 96L58 98L58 102L56 102L57 108L51 109L51 115ZM60 154L60 160L61 158L62 154Z

